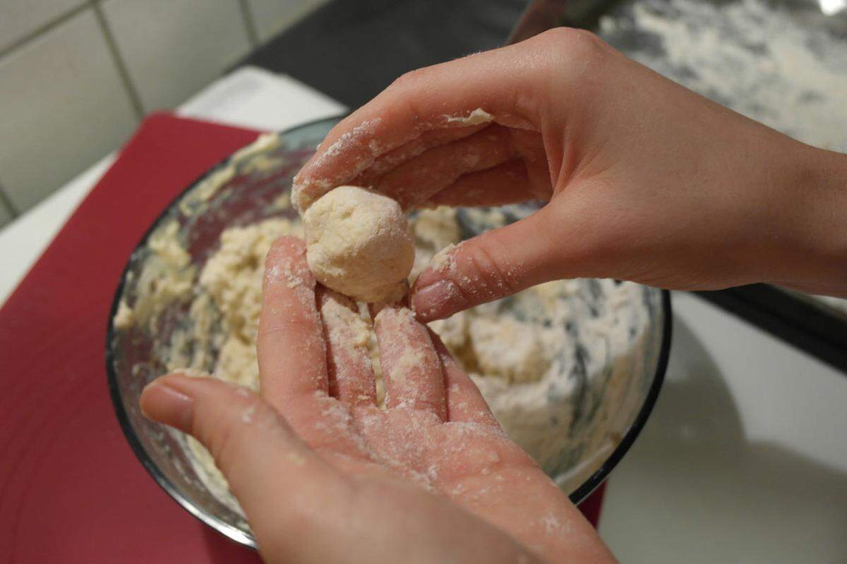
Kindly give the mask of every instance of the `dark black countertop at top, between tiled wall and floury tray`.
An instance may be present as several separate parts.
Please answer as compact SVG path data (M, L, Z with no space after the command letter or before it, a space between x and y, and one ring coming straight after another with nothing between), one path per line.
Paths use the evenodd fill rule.
M355 108L408 70L502 45L526 4L334 0L240 64L290 74Z

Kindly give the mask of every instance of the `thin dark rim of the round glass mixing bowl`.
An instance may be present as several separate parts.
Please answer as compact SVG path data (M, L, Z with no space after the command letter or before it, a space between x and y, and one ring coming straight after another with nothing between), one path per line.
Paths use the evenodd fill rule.
M283 129L279 132L276 132L277 135L285 135L296 132L299 129L306 129L309 127L313 127L318 125L319 123L338 123L340 119L344 118L345 115L349 114L341 114L339 116L334 116L330 118L322 118L316 119L307 123L302 123L300 125L296 125L295 127L289 129ZM246 145L245 145L246 146ZM132 253L130 253L129 258L126 261L126 265L124 266L124 270L121 272L120 280L118 282L118 287L115 289L114 297L112 298L112 307L109 309L109 315L106 326L106 375L107 375L107 383L108 383L108 392L109 397L112 400L112 406L114 408L114 412L116 417L118 418L118 422L120 424L120 429L123 431L126 441L130 444L130 448L132 452L135 454L138 461L141 465L147 470L147 474L150 474L152 479L156 481L156 483L167 493L174 501L176 501L181 507L185 509L185 511L191 513L194 517L197 517L202 523L207 524L209 527L218 531L220 534L223 534L228 539L234 540L236 543L244 545L248 548L256 549L256 539L253 538L252 534L247 534L241 528L233 527L229 523L225 523L223 520L218 517L214 517L208 512L202 511L199 507L197 507L193 501L191 501L188 497L184 496L180 490L177 490L176 486L170 481L170 479L165 476L161 469L153 463L152 457L147 452L147 449L141 444L141 440L136 435L136 430L132 426L130 422L129 413L126 412L124 408L123 397L120 393L120 388L118 386L118 375L114 370L114 360L115 355L112 348L112 343L114 342L115 337L115 327L114 327L114 316L118 313L118 308L120 304L121 298L123 298L124 287L126 283L126 275L130 269L132 264L132 258L144 245L147 244L147 239L150 238L150 235L160 226L166 216L169 215L169 211L174 207L174 205L179 202L182 197L188 193L191 189L194 189L198 183L201 183L205 178L211 176L214 172L219 171L219 169L227 167L233 159L235 155L235 151L226 156L223 160L215 164L213 167L209 168L208 171L203 172L201 176L197 177L192 183L185 187L185 189L180 190L179 194L176 194L172 200L169 201L168 205L163 208L163 211L159 213L156 219L152 222L150 227L147 228L147 231L141 236ZM580 501L583 501L586 497L590 496L591 492L596 490L603 482L608 478L609 474L612 473L612 469L617 466L617 463L621 461L623 455L625 455L631 446L633 446L635 439L638 438L641 430L644 428L647 419L650 418L650 413L652 413L654 406L656 405L656 399L659 397L659 392L662 389L662 384L665 381L665 372L667 370L667 362L670 357L670 348L671 348L671 336L673 332L673 311L671 308L671 294L665 289L656 288L662 293L662 344L659 349L659 359L656 363L656 372L653 375L653 381L650 384L650 390L647 392L647 396L645 397L644 403L641 405L639 409L639 413L635 416L632 424L630 424L629 429L626 434L623 435L623 438L617 446L615 446L612 454L606 458L606 460L600 465L600 468L597 468L593 474L591 474L582 485L579 486L576 490L573 490L571 494L568 495L570 501L574 504L578 504Z

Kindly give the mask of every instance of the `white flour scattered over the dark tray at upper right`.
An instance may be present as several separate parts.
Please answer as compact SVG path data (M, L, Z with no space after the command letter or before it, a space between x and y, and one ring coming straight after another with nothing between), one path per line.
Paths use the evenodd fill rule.
M847 152L847 10L817 1L639 0L600 20L628 57L736 112ZM847 312L847 299L811 296Z

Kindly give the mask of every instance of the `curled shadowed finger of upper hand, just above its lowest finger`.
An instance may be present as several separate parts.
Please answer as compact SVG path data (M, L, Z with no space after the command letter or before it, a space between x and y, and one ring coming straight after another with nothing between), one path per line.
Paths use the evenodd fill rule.
M461 140L439 145L379 179L375 189L409 209L455 183L462 174L512 160L518 153L507 128L492 125Z

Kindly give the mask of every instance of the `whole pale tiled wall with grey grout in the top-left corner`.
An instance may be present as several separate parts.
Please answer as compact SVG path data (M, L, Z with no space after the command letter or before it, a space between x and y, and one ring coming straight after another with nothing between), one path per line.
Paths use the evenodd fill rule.
M0 227L327 1L0 0Z

